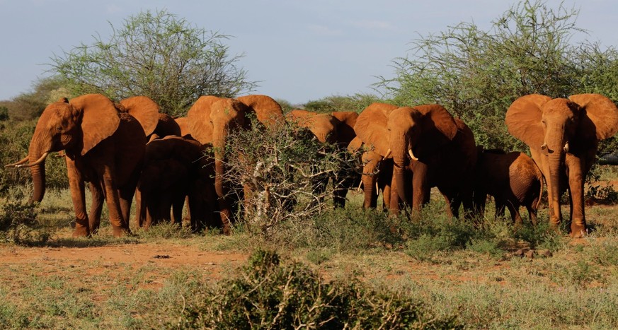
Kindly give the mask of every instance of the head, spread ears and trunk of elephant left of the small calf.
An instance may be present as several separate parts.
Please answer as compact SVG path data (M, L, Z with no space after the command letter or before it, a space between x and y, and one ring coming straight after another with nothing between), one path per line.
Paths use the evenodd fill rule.
M457 134L457 124L440 105L398 108L374 103L358 116L354 130L379 155L393 158L394 184L399 199L411 201L404 189L405 168L410 160L427 162L436 148L452 141Z

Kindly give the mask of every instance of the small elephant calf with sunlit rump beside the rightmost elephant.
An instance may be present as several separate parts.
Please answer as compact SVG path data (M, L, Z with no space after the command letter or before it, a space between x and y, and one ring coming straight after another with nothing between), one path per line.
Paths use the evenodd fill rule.
M543 175L534 160L525 153L505 153L500 149L483 150L479 146L474 183L474 204L482 216L487 195L496 201L496 217L505 206L515 225L522 224L520 206L525 206L533 225L543 189Z

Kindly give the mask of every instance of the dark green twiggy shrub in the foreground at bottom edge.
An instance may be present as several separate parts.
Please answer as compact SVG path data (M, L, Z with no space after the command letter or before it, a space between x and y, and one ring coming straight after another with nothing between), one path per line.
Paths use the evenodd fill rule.
M258 250L236 278L222 281L183 311L179 329L444 329L410 297L374 291L352 279L324 281L298 263Z

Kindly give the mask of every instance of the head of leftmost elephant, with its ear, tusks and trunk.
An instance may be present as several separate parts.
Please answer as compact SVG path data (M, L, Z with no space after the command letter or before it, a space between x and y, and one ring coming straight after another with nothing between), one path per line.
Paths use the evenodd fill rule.
M45 158L50 152L66 151L69 158L85 155L108 138L120 124L114 103L100 94L62 98L43 110L35 127L28 157L17 165L30 167L34 192L32 201L45 195ZM30 162L30 163L28 163Z

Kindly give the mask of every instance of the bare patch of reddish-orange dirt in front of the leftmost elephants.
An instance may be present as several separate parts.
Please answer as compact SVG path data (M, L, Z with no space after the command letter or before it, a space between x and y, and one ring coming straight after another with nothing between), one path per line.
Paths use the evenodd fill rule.
M0 245L0 281L11 283L11 273L30 272L31 276L75 278L77 281L126 281L139 274L139 286L160 288L178 270L200 271L213 280L224 269L235 268L246 254L204 251L198 247L172 243L139 243L103 247L16 247ZM125 277L125 278L120 278ZM103 281L101 281L103 279ZM6 280L6 281L5 281ZM109 283L110 285L112 283Z

